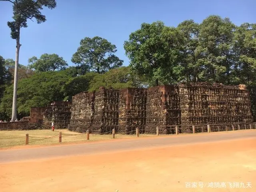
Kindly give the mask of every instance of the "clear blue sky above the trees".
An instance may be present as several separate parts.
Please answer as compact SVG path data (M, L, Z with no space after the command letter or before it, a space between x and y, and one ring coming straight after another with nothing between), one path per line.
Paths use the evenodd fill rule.
M161 20L167 26L177 26L188 19L200 23L216 14L236 25L256 23L255 7L256 0L57 0L55 9L42 11L46 22L28 21L28 28L22 28L19 63L27 65L32 56L56 53L72 66L80 40L101 36L116 45L116 55L127 66L124 41L143 22ZM12 4L0 2L0 55L5 59L15 58L16 42L7 26L10 20Z

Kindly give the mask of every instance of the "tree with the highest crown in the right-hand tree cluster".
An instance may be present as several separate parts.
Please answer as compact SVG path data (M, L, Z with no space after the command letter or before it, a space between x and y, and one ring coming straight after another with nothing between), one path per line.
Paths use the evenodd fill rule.
M236 26L229 18L209 16L200 24L196 57L201 81L232 82L234 52L232 41Z

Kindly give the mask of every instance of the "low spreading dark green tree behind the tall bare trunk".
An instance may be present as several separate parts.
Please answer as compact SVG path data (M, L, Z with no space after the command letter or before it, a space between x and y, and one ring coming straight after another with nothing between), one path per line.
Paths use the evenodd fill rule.
M48 71L36 73L30 78L19 81L18 87L18 115L28 116L30 107L44 107L52 101L64 99L63 86L71 78L65 72ZM13 84L10 84L4 92L0 104L0 113L10 117L12 112Z

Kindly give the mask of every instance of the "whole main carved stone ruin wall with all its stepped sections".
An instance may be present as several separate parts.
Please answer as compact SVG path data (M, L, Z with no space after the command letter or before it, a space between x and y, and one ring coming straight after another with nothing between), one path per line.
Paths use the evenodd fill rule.
M240 86L191 83L82 92L72 98L69 130L92 133L172 134L175 126L192 132L192 125L252 122L248 90ZM219 129L220 127L218 127ZM183 132L179 129L179 132Z

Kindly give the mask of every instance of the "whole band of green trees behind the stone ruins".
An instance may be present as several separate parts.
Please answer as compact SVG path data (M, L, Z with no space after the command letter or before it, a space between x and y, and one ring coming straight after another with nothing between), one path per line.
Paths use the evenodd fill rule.
M186 20L177 27L163 22L143 23L124 42L130 65L114 55L116 46L104 38L84 38L72 57L76 66L56 54L20 65L18 114L53 100L72 100L82 91L148 87L209 81L246 84L256 112L256 24L234 25L228 18L209 16L198 24ZM12 112L14 61L0 57L0 116ZM23 74L23 75L21 75ZM1 95L2 94L2 95Z

